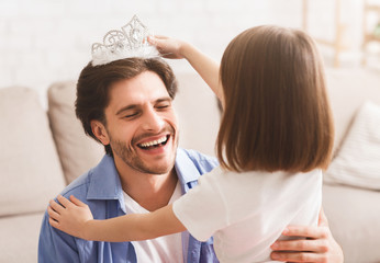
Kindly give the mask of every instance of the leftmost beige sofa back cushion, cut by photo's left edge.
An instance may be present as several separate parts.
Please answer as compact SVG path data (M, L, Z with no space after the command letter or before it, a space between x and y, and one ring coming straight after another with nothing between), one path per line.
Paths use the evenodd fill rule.
M35 91L0 89L0 216L43 211L64 175Z

